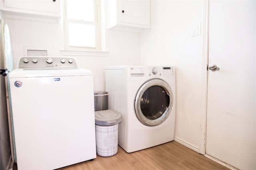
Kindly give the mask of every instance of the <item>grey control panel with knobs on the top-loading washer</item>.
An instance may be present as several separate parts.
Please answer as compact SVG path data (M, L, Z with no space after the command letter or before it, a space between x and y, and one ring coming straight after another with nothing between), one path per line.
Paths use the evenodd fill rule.
M78 68L74 58L66 57L22 57L18 68L28 69L57 69L57 68Z

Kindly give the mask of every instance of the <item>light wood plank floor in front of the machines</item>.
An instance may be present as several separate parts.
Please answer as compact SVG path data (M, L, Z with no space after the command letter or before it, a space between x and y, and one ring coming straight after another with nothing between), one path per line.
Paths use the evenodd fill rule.
M17 170L15 164L14 170ZM127 153L118 146L117 154L98 156L93 161L58 170L229 170L202 154L172 141L156 147Z

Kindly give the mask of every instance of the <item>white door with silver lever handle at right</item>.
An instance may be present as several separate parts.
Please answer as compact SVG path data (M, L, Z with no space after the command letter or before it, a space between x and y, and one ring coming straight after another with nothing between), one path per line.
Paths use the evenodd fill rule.
M206 154L256 169L256 1L210 1Z

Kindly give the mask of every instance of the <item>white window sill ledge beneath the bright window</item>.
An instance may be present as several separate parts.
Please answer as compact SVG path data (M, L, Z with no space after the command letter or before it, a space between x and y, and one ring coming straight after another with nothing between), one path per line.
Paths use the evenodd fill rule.
M62 55L71 56L91 56L91 57L108 57L107 51L80 51L80 50L60 50Z

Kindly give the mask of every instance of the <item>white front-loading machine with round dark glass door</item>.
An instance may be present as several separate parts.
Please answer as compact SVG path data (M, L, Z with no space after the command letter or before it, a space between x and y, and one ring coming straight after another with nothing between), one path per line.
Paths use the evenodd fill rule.
M108 108L122 116L118 144L126 152L174 139L175 68L108 66Z

